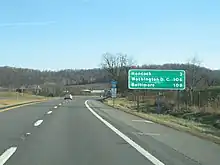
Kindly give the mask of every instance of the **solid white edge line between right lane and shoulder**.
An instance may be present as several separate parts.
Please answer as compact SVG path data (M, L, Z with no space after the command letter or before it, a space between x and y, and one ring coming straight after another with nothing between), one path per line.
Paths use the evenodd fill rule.
M109 127L112 131L114 131L118 136L120 136L122 139L124 139L128 144L130 144L133 148L135 148L139 153L141 153L144 157L146 157L149 161L151 161L154 165L165 165L163 162L158 160L156 157L151 155L148 151L146 151L144 148L142 148L140 145L132 141L129 137L127 137L125 134L120 132L117 128L115 128L113 125L111 125L109 122L104 120L101 116L99 116L92 108L88 105L88 100L85 101L85 105L88 108L88 110L97 117L101 122L103 122L107 127Z

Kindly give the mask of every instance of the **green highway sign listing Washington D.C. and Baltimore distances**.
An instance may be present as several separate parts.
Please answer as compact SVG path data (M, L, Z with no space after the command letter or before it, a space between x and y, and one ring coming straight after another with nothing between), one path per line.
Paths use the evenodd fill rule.
M129 89L184 90L186 72L184 70L130 69Z

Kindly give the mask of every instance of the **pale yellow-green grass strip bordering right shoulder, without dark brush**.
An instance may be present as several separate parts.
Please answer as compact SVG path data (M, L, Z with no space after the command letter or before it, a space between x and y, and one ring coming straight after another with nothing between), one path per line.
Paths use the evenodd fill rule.
M112 99L106 99L104 100L104 103L109 106L113 106ZM126 98L115 99L114 108L220 144L220 129L214 127L212 124L209 124L209 122L204 124L189 119L183 119L180 116L175 117L173 115L155 114L152 113L151 107L146 104L144 106L140 105L140 108L142 108L142 111L144 109L147 110L144 112L138 112L136 110L135 102L128 101Z

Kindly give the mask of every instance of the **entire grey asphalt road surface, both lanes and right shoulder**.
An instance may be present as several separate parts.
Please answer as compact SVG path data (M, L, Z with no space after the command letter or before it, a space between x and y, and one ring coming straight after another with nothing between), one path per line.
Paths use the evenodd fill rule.
M0 165L219 165L217 144L92 99L0 112Z

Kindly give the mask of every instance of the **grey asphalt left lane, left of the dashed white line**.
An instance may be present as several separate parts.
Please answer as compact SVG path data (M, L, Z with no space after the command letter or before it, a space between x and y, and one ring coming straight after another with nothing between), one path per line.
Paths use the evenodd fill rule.
M0 111L0 155L10 146L19 143L32 131L34 123L38 119L62 101L56 99L4 112Z

